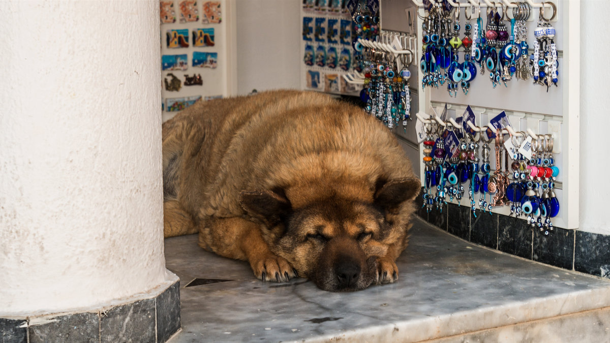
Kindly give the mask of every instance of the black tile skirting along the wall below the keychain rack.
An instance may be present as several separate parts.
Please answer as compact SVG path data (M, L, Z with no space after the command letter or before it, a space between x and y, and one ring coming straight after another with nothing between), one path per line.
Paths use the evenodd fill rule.
M554 267L610 278L610 235L554 228L548 235L527 225L523 218L476 211L448 203L433 209L427 219L448 233L475 244Z

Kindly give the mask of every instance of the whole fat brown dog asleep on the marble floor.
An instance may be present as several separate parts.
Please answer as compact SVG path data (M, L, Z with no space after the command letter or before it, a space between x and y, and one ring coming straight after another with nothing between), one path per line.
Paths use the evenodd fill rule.
M165 237L328 291L398 278L420 181L393 134L314 92L199 102L163 124Z

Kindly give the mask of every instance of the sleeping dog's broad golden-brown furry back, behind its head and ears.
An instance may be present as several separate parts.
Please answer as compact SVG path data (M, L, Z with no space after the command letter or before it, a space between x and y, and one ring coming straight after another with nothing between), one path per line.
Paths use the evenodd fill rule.
M198 218L245 215L242 190L283 189L306 202L412 176L376 118L320 93L199 102L163 124L166 237L196 233Z

